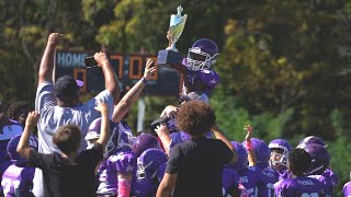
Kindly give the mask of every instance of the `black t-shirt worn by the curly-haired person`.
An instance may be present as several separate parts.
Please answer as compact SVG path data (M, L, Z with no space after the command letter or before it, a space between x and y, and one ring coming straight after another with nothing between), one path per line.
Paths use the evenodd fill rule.
M231 150L217 139L199 138L177 144L166 167L166 173L178 174L173 196L223 196L222 171L231 158Z

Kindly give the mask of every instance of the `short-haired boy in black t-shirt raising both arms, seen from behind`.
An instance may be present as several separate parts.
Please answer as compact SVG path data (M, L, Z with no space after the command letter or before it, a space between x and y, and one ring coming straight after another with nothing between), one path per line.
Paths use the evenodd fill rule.
M81 151L81 132L76 125L64 125L54 134L53 142L61 153L42 154L29 147L31 129L35 127L39 115L31 112L25 128L18 144L18 152L30 160L44 174L44 186L50 197L97 196L94 169L103 158L103 150L110 137L109 108L106 104L99 104L101 112L100 138L90 150Z

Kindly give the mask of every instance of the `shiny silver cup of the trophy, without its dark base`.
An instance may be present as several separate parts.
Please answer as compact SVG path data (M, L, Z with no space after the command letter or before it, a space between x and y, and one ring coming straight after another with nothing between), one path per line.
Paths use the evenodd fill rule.
M183 11L182 5L179 5L177 8L177 14L171 15L171 19L169 22L169 34L170 34L171 46L166 48L168 50L178 51L178 49L176 48L176 43L178 42L179 37L183 33L186 18L188 18L186 14L181 15L182 11Z

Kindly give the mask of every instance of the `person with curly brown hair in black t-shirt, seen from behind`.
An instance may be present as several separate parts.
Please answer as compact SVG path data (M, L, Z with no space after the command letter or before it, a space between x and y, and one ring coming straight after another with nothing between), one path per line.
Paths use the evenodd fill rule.
M229 140L219 134L215 120L214 111L204 102L181 105L176 121L191 140L171 150L157 197L169 197L172 192L173 197L222 196L223 166L234 163L237 155ZM208 130L219 140L207 139L204 135Z

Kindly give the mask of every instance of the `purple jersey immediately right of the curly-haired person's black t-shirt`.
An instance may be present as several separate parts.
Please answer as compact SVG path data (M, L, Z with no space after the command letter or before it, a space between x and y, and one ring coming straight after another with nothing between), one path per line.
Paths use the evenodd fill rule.
M239 175L236 170L225 167L222 173L222 192L224 197L229 195L231 187L239 187Z

